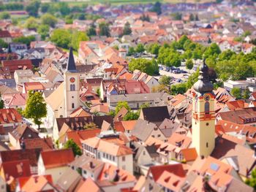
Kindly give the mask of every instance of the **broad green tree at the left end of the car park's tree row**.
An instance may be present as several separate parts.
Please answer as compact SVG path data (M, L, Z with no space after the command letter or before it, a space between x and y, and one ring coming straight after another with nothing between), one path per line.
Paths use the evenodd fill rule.
M154 59L150 61L146 58L132 58L132 61L129 62L129 70L133 72L135 69L138 69L140 72L145 72L149 75L154 75L159 72L159 67Z

